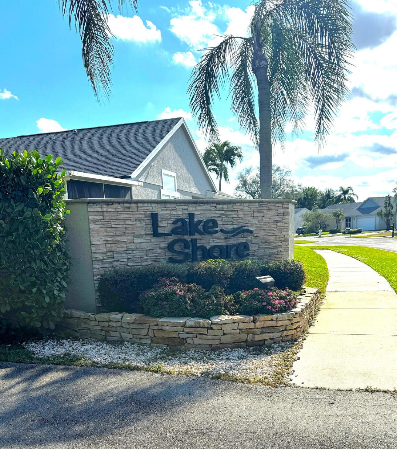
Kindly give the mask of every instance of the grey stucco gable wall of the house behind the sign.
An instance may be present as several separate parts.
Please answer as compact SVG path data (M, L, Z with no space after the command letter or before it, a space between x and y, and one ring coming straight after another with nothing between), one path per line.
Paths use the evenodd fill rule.
M160 198L163 184L161 169L176 173L177 190L181 193L181 198L192 198L191 194L205 196L207 190L214 191L183 127L170 137L164 149L151 161L150 166L136 177L137 180L144 182L144 186L133 187L134 198Z

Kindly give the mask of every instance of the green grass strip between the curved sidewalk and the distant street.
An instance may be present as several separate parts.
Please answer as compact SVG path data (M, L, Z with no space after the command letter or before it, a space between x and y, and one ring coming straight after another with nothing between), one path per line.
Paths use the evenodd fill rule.
M308 247L310 248L310 247ZM349 255L367 264L383 276L397 292L397 253L366 247L315 247L316 249L332 250ZM306 247L299 247L299 250ZM295 254L297 247L295 247ZM298 259L300 260L300 259Z

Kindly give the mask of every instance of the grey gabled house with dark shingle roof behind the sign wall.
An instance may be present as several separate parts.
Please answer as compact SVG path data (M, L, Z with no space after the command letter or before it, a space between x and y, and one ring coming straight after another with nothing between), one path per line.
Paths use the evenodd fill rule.
M183 118L0 139L0 148L61 156L66 199L230 198L218 192Z

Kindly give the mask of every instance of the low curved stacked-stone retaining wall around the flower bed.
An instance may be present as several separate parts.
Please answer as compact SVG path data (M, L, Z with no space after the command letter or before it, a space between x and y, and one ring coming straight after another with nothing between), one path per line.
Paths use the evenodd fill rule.
M154 318L139 313L86 313L65 310L61 330L73 336L197 349L260 346L297 339L318 301L318 289L305 287L296 308L274 315L218 315Z

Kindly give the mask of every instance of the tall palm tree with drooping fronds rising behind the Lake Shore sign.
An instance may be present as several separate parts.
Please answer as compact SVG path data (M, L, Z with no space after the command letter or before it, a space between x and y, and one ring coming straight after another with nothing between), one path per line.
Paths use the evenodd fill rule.
M219 139L214 96L230 80L231 109L259 149L262 198L271 197L272 141L284 142L287 122L299 132L313 104L315 138L321 144L348 93L348 59L354 48L348 2L261 0L255 4L249 37L225 36L205 49L193 69L190 106L211 141Z

